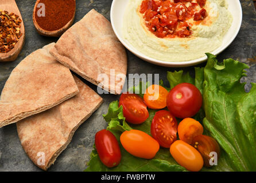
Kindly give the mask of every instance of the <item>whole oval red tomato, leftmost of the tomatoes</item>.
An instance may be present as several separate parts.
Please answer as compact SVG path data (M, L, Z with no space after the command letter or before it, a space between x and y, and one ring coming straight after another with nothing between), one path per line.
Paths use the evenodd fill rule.
M117 166L121 161L121 150L117 138L108 130L100 130L95 134L95 146L100 161L108 168Z

